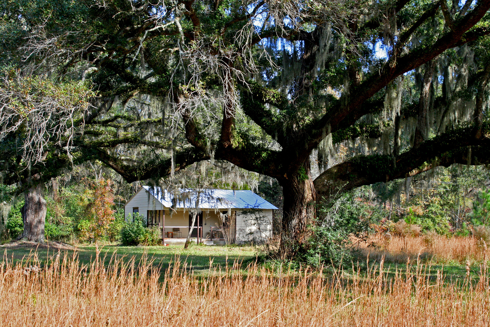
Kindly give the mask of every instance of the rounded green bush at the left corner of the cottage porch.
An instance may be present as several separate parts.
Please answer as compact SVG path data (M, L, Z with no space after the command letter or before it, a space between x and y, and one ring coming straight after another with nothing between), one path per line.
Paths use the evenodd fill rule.
M144 226L144 217L134 213L129 222L125 222L121 230L121 243L127 246L156 245L159 241L158 228L149 229Z

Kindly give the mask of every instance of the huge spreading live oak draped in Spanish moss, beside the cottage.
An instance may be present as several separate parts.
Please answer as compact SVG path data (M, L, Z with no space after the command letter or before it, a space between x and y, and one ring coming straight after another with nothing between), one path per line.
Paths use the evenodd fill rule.
M155 128L140 133L151 140L145 160L121 146L93 149L98 158L128 181L208 159L277 179L284 257L308 237L320 201L490 158L489 0L43 5L63 20L21 15L37 24L24 48L43 64L58 51L60 75L117 99L100 135L140 120ZM158 118L127 111L142 99L160 103Z

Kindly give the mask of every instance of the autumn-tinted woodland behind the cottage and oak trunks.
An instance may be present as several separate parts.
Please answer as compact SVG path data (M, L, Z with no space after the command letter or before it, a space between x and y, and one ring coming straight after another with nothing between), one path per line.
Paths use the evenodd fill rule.
M248 177L249 184L243 183L241 189L251 189L282 206L277 181L264 177L259 180L258 175ZM472 237L488 243L489 184L487 167L454 165L411 179L358 188L343 195L333 206L319 205L319 212L328 221L314 227L309 246L294 262L316 266L320 264L321 253L321 263L348 263L349 258L357 256L359 242L373 250L380 248L382 244L373 242L376 237L421 237L427 242L440 235ZM124 219L123 205L141 185L142 182L127 183L97 162L80 165L70 175L53 179L44 195L48 208L46 239L79 245L161 245L158 231L146 228L143 220ZM214 186L236 189L238 185ZM24 230L21 214L24 199L9 197L7 191L3 190L1 203L2 244L14 240ZM274 217L278 220L280 213ZM277 237L280 222L274 221L273 226ZM133 234L128 236L127 230ZM274 239L268 241L273 243Z

